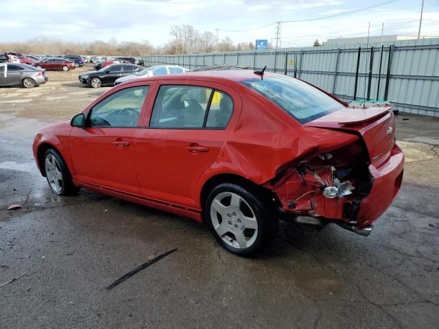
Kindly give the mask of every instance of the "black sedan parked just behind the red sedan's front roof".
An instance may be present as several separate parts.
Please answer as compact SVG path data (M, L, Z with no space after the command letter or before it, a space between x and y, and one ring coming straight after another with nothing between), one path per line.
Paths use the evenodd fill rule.
M143 70L143 67L132 64L112 64L99 71L88 71L79 75L80 82L86 86L99 88L104 84L115 84L116 79Z

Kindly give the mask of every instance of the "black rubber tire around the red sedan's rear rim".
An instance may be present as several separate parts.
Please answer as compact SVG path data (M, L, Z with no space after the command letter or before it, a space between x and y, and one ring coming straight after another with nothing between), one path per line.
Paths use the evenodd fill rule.
M254 234L256 234L256 239L248 247L233 247L224 241L222 236L219 236L214 228L213 219L211 217L211 205L215 197L224 195L224 193L233 193L241 197L241 199L244 199L247 204L246 207L250 207L254 213L254 216L256 217L257 232L254 231ZM233 252L233 254L246 257L253 256L257 252L261 251L261 249L270 245L276 236L279 225L278 216L276 215L276 211L274 210L273 206L271 206L271 203L268 201L268 197L264 197L263 193L258 193L256 188L244 188L237 184L229 183L219 184L209 193L204 204L204 222L209 226L213 236L218 243L222 245L222 247L227 249L229 252ZM230 221L228 221L228 223L230 223Z

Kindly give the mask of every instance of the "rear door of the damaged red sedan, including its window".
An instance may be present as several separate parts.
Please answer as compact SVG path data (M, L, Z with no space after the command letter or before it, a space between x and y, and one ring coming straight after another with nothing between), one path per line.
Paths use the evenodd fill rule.
M141 195L196 207L200 175L213 164L241 112L228 86L185 80L156 84L154 106L139 130L136 168ZM224 100L223 100L224 99Z

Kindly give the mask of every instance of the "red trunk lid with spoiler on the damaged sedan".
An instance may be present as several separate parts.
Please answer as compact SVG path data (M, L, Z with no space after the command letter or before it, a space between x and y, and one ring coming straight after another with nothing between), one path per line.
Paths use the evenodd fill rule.
M390 156L395 141L392 106L344 108L305 125L321 127L361 136L371 164L379 167Z

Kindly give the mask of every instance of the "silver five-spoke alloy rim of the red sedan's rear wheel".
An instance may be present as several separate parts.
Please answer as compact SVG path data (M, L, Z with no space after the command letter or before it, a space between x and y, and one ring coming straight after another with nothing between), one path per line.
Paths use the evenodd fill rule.
M213 199L211 219L215 232L232 247L244 249L256 241L258 223L254 211L236 193L219 193Z

